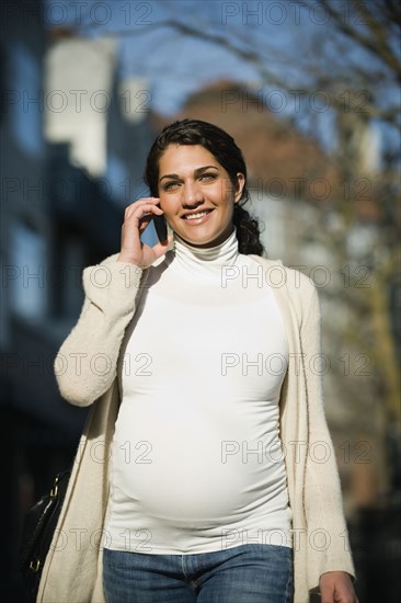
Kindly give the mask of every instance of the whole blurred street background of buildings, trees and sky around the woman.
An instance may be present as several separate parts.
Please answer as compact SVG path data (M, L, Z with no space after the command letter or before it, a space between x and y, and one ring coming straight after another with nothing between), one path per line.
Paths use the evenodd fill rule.
M149 147L183 117L229 132L267 257L319 288L325 409L360 603L401 596L400 81L396 0L1 3L0 598L26 601L24 512L87 410L53 363L84 266L119 249ZM152 226L145 239L153 242Z

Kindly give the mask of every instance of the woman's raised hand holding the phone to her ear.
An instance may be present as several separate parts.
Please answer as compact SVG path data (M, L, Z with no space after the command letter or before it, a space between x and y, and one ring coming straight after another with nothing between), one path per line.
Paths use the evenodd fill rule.
M149 226L153 215L162 216L163 211L159 207L159 198L144 197L128 205L125 211L122 228L122 249L117 262L128 262L139 268L148 268L158 258L164 255L171 241L169 235L167 240L150 247L140 240L144 230Z

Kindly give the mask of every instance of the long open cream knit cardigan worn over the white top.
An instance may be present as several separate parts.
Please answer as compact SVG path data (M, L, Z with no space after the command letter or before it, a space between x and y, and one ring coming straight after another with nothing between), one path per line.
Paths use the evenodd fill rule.
M125 329L146 288L148 270L112 255L83 271L85 300L61 345L55 372L64 398L92 405L78 447L65 503L44 566L38 602L104 603L102 542L108 499L108 459L119 396L116 363ZM295 603L326 571L354 576L334 448L329 435L321 377L320 308L303 274L279 261L261 264L282 311L289 366L280 397L280 435L294 528Z

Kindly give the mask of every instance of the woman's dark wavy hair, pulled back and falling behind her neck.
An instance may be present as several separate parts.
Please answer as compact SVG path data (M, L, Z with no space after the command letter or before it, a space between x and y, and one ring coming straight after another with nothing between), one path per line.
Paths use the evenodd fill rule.
M200 145L207 149L225 168L230 181L237 187L237 174L243 173L245 185L239 203L234 205L233 225L237 228L239 252L262 255L263 244L257 219L251 217L243 205L250 201L247 189L247 166L241 149L234 139L224 129L199 120L182 120L163 128L154 140L146 163L144 179L154 197L159 196L159 162L169 145Z

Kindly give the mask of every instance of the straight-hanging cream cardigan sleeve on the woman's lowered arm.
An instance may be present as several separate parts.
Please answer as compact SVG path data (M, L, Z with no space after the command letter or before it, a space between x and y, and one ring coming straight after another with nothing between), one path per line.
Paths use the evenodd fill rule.
M324 359L321 353L321 312L317 289L310 282L302 307L300 339L309 425L303 505L308 526L309 583L318 584L320 576L328 571L346 571L351 576L355 572L335 451L323 409L321 376L326 367L321 364Z

